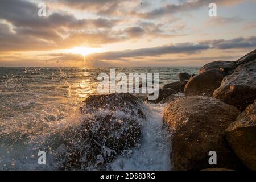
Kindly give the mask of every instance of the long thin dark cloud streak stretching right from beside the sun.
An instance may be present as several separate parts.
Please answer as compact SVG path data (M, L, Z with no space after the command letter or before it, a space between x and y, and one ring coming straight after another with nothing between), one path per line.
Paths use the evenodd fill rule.
M195 54L208 49L233 49L233 48L254 48L256 47L256 37L236 38L231 40L207 40L200 43L180 43L174 45L165 45L159 47L133 49L125 51L113 51L104 53L95 53L89 55L93 60L127 60L131 57L139 59L142 57L159 56L166 54ZM232 59L234 56L218 56L223 59ZM217 57L213 57L217 59ZM187 58L186 58L187 59ZM195 60L209 59L209 57L194 58ZM168 60L168 59L166 59ZM170 60L170 59L169 59ZM211 59L213 60L213 59Z

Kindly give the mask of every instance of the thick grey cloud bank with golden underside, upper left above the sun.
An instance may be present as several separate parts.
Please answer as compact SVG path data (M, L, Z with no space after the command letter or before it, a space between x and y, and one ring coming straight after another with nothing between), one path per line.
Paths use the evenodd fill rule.
M0 1L0 20L4 20L0 22L0 51L43 51L123 40L111 30L119 20L76 19L63 11L39 17L38 10L28 1Z

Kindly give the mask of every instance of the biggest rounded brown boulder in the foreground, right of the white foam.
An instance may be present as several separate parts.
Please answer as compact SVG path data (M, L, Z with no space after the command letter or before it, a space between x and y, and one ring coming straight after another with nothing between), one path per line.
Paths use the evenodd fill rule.
M170 102L164 109L166 125L174 132L171 162L174 170L212 168L210 151L217 153L214 167L242 169L243 164L230 150L225 129L240 110L212 97L189 96Z

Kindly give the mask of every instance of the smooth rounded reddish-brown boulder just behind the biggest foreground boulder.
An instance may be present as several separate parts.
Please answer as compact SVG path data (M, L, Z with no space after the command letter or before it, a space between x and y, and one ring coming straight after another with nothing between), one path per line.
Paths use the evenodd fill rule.
M220 85L226 73L220 69L210 69L192 77L184 88L185 96L212 96Z

